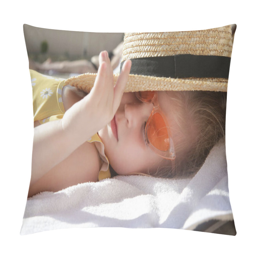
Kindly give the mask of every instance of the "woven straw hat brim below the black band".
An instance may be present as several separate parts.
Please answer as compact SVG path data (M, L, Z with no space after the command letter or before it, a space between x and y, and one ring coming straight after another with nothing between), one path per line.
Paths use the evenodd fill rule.
M97 74L83 74L70 77L65 84L89 93ZM114 75L116 84L118 74ZM124 92L137 91L216 91L227 92L228 79L225 78L166 78L154 76L129 75Z

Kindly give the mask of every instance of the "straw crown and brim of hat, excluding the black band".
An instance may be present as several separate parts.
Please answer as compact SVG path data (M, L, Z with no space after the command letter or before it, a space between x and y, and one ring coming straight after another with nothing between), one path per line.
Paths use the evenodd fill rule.
M122 61L137 58L191 54L231 57L231 25L197 31L163 33L125 33ZM134 72L135 73L135 72ZM136 73L135 73L136 74ZM142 74L142 73L141 73ZM150 75L150 74L147 74ZM153 75L153 74L152 74ZM118 75L114 76L116 83ZM66 84L89 93L96 74L83 74L66 80ZM125 92L136 91L221 91L227 92L227 78L170 78L129 75Z

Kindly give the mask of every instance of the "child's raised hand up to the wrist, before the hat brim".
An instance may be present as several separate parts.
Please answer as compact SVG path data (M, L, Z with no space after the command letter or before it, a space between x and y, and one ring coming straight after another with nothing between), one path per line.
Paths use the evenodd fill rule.
M68 109L62 119L63 129L73 134L72 140L80 140L81 143L113 119L131 69L131 60L126 60L114 86L108 52L101 52L99 61L100 67L91 92Z

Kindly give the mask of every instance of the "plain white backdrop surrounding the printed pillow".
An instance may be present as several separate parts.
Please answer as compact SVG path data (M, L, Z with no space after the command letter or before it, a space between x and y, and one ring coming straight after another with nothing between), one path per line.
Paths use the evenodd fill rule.
M16 2L16 3L15 3ZM142 1L141 1L142 2ZM255 19L252 2L12 1L2 4L1 239L0 254L198 255L250 254L255 236ZM227 161L237 235L175 229L83 228L20 236L30 180L33 109L23 24L89 31L180 31L236 23L228 82ZM253 24L254 23L254 24ZM11 100L10 100L11 99ZM7 252L7 253L6 253ZM247 253L248 252L248 253Z

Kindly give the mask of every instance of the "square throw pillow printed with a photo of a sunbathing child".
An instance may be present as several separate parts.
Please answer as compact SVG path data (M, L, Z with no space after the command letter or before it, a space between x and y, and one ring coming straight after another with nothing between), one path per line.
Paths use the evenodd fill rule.
M235 30L236 25L229 25L185 32L89 33L24 24L35 137L21 234L68 227L162 227L236 235L225 152ZM95 94L97 89L91 90L97 72L104 70L99 58L104 50L108 54L102 52L100 58L114 70L114 83L121 84L119 70L125 76L129 69L126 60L132 61L130 75L115 117L80 142L81 129L87 131L73 104ZM66 118L68 108L76 118ZM134 128L131 137L121 135L126 131L121 116L129 131ZM66 120L72 121L67 126L71 137L58 130ZM164 130L164 140L152 129ZM122 146L113 147L114 140Z

